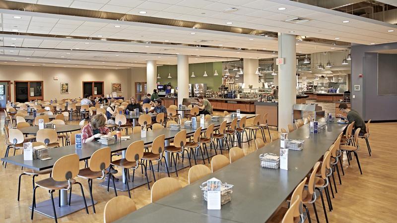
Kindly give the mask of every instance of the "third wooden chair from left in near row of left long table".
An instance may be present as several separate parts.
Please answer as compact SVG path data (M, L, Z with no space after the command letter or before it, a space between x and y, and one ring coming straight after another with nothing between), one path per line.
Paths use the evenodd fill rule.
M129 169L132 168L133 169L132 182L133 182L133 176L135 173L135 169L137 169L139 167L139 165L143 165L140 162L140 159L142 157L143 157L143 141L139 140L139 141L135 141L135 142L131 143L128 146L128 148L126 150L126 158L112 161L111 165L112 165L112 167L124 168L123 174L125 174L126 177L130 176ZM144 166L144 169L146 171L146 166ZM149 179L147 178L147 174L145 174L145 175L146 175L146 179L147 179L147 184L149 185ZM113 175L112 175L112 178L114 179ZM129 185L128 181L126 184L127 184L127 189L128 189L128 195L131 198L130 185ZM109 181L108 181L108 191L109 191ZM117 194L116 194L116 196L117 196Z

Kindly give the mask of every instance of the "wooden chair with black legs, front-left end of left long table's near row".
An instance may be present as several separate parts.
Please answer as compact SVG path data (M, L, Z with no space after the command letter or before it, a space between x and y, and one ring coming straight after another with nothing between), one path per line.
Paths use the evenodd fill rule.
M79 171L79 157L77 154L70 154L64 157L61 157L54 164L52 170L52 177L37 181L35 183L35 187L33 189L33 202L32 202L32 216L31 220L33 220L34 208L36 207L36 189L38 187L44 188L49 191L51 194L51 200L53 204L54 217L55 222L57 223L57 213L55 211L54 204L54 196L53 193L56 190L71 190L71 185L77 183L80 185L81 195L85 205L85 211L88 214L87 203L85 201L83 186L81 183L77 182L74 177L77 176ZM69 192L71 193L71 191ZM70 197L69 197L69 205L70 205Z

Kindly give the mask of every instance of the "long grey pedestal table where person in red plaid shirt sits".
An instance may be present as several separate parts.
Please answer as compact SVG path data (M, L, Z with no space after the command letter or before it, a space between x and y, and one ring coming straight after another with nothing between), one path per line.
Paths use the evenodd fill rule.
M252 118L252 117L255 117L256 115L255 114L241 114L241 116L247 116L247 118ZM232 121L232 119L230 119L230 118L221 118L220 117L219 121L211 121L211 122L205 122L205 123L198 122L197 128L201 126L202 129L206 129L209 126L209 124L212 124L212 123L214 124L214 126L219 126L224 120L226 120L228 123L230 123ZM192 134L196 131L197 128L190 128L190 129L185 129L185 130L186 130L187 134ZM16 165L16 166L20 166L20 167L34 169L34 170L45 170L45 169L52 168L58 159L66 156L66 155L77 154L79 156L80 161L85 161L85 160L90 159L92 154L95 151L97 151L100 148L104 148L104 147L110 147L111 153L122 152L122 156L123 156L123 158L125 158L126 149L134 141L142 140L144 145L150 145L150 144L152 144L152 142L154 141L154 139L157 136L164 134L165 135L164 143L165 143L165 146L168 146L168 145L170 145L170 140L173 139L177 133L178 133L178 131L171 131L169 128L162 128L162 129L156 129L153 131L148 131L146 133L146 137L144 137L144 138L141 138L140 134L132 134L132 135L130 135L130 139L122 140L121 142L115 143L112 145L102 145L99 142L88 142L88 143L83 143L81 149L75 148L75 145L69 145L69 146L63 146L63 147L59 147L59 148L50 149L49 157L51 159L49 159L49 160L36 159L36 160L31 160L31 161L25 161L23 159L23 155L17 155L17 156L12 156L12 157L1 158L1 161ZM166 163L170 167L170 164L171 164L170 154L166 152L165 158L166 158ZM184 167L188 167L188 166L189 165L179 166L179 168L184 168ZM122 172L124 172L124 171L122 171ZM172 172L171 168L170 168L170 172ZM122 178L123 178L123 180L121 182L117 182L116 189L126 191L127 190L126 183L131 184L130 189L137 187L137 184L134 185L132 182L129 182L128 177L125 176L124 174L122 175ZM103 182L101 184L103 184ZM141 183L140 185L143 185L143 184L144 183ZM74 212L79 211L84 208L84 203L83 203L82 197L78 196L76 194L71 195L72 202L71 202L71 205L69 206L68 202L67 202L67 197L68 197L67 193L68 192L66 190L61 190L61 192L60 192L61 196L59 198L58 197L55 198L56 203L59 201L58 199L61 200L60 201L61 208L57 209L57 217L58 218L69 215L71 213L74 213ZM86 198L86 201L87 201L88 206L92 205L90 199ZM50 200L46 200L46 201L37 203L36 207L35 207L35 211L38 213L41 213L43 215L46 215L50 218L54 218L51 202L52 201L50 199ZM96 201L94 200L94 204L95 203L96 203ZM29 208L31 209L31 207L29 207Z

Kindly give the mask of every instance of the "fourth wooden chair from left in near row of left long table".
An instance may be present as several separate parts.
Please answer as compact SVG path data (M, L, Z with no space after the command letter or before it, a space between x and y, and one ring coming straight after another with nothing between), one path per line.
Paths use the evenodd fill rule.
M176 136L175 136L176 137ZM167 173L168 173L168 177L170 176L170 172L168 170L168 165L167 162L165 161L165 157L163 156L163 152L164 152L164 141L165 141L165 135L159 135L157 136L153 143L152 143L152 148L151 148L151 152L144 152L143 156L142 156L142 160L146 161L146 166L147 166L147 162L149 162L149 167L152 170L153 173L153 179L154 181L156 181L156 176L154 175L154 168L153 168L153 161L158 162L157 165L157 172L159 171L159 167L160 164L159 162L164 159L164 164L165 167L167 169ZM143 151L143 150L142 150ZM172 160L171 160L172 162ZM142 163L143 164L143 163ZM162 165L162 164L161 164ZM146 169L145 169L146 171ZM145 174L147 176L147 174ZM149 181L147 181L147 186L150 190L150 186L149 186Z

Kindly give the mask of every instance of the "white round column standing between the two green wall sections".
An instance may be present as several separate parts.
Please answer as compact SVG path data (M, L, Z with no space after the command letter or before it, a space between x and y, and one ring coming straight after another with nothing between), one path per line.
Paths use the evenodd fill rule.
M189 56L178 55L178 105L189 98Z

